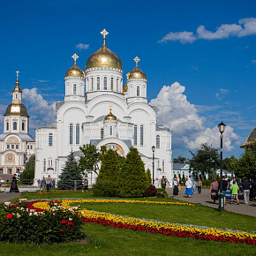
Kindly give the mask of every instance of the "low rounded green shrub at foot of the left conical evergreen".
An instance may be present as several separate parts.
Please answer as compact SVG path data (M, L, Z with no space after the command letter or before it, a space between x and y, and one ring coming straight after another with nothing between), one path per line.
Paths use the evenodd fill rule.
M111 180L97 180L93 185L93 193L97 197L113 197L116 196L116 187Z

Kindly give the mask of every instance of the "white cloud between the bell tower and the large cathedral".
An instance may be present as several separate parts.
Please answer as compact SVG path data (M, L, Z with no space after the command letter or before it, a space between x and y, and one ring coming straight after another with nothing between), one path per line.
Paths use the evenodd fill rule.
M22 98L30 116L30 127L46 126L56 120L55 103L49 103L37 93L37 88L23 89Z

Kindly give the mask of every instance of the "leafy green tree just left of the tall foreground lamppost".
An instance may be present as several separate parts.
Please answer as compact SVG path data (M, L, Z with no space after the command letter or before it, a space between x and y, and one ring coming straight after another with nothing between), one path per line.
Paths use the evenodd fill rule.
M201 144L196 153L192 153L192 159L189 161L191 169L194 172L201 172L202 178L205 179L207 174L219 167L220 157L218 149L210 147L207 143Z

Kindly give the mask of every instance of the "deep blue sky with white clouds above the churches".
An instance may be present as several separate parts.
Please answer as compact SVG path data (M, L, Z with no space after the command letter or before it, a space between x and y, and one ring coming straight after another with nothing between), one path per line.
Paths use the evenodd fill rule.
M0 132L19 73L34 127L54 120L63 101L64 73L79 55L107 46L122 59L124 81L139 56L148 102L158 124L173 131L173 155L191 156L200 142L219 145L216 125L227 124L224 157L243 152L256 125L255 1L5 1L0 16Z

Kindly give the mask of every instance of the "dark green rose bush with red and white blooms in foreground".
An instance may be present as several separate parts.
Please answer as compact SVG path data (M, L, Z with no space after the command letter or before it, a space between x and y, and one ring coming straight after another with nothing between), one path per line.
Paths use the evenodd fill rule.
M0 240L13 243L66 243L84 237L78 207L71 210L51 202L44 212L26 203L0 206Z

